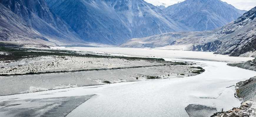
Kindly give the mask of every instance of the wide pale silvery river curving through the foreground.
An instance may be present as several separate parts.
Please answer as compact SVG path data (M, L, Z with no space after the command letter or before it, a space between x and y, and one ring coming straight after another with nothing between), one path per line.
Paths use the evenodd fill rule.
M154 52L152 51L151 54L159 54ZM115 51L111 53L115 54ZM164 55L159 56L162 57ZM211 56L214 57L215 55ZM219 61L243 61L250 59L222 55L217 56L221 56L221 58L216 57ZM200 58L200 56L197 57ZM164 59L167 61L182 60L170 58L167 55ZM214 60L216 59L214 58ZM240 106L240 101L234 97L234 85L239 81L249 79L256 75L255 71L227 66L225 62L188 59L186 61L204 63L206 65L204 67L206 71L200 75L185 78L122 82L110 85L75 87L1 96L0 102L9 99L15 100L16 98L21 100L96 94L96 96L74 109L67 117L188 117L184 108L189 104L214 106L218 111L222 108L225 111Z

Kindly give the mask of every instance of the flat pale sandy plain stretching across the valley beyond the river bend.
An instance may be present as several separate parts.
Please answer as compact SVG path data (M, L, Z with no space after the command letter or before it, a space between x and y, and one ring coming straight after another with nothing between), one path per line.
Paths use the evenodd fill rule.
M200 59L210 61L240 62L254 59L253 57L234 57L213 52L182 51L182 50L159 50L143 48L119 48L119 47L52 47L61 50L93 51L97 53L108 53L112 55L142 56L175 59Z

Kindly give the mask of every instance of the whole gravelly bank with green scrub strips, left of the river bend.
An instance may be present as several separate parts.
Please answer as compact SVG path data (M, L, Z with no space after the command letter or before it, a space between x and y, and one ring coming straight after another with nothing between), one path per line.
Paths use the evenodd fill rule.
M0 86L0 95L182 78L204 72L199 67L200 64L192 62L109 56L81 51L4 49L10 54L0 56L0 82L3 84Z

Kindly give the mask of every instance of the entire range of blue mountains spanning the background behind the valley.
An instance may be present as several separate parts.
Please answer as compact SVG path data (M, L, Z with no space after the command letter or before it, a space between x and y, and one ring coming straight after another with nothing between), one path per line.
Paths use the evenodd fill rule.
M167 8L144 0L1 0L0 42L119 45L168 32L212 30L245 11L220 0Z

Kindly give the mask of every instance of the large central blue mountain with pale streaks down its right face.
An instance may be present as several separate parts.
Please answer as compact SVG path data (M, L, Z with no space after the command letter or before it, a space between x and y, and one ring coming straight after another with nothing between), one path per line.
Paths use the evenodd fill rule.
M54 13L89 42L117 45L133 37L187 30L143 0L46 1Z

